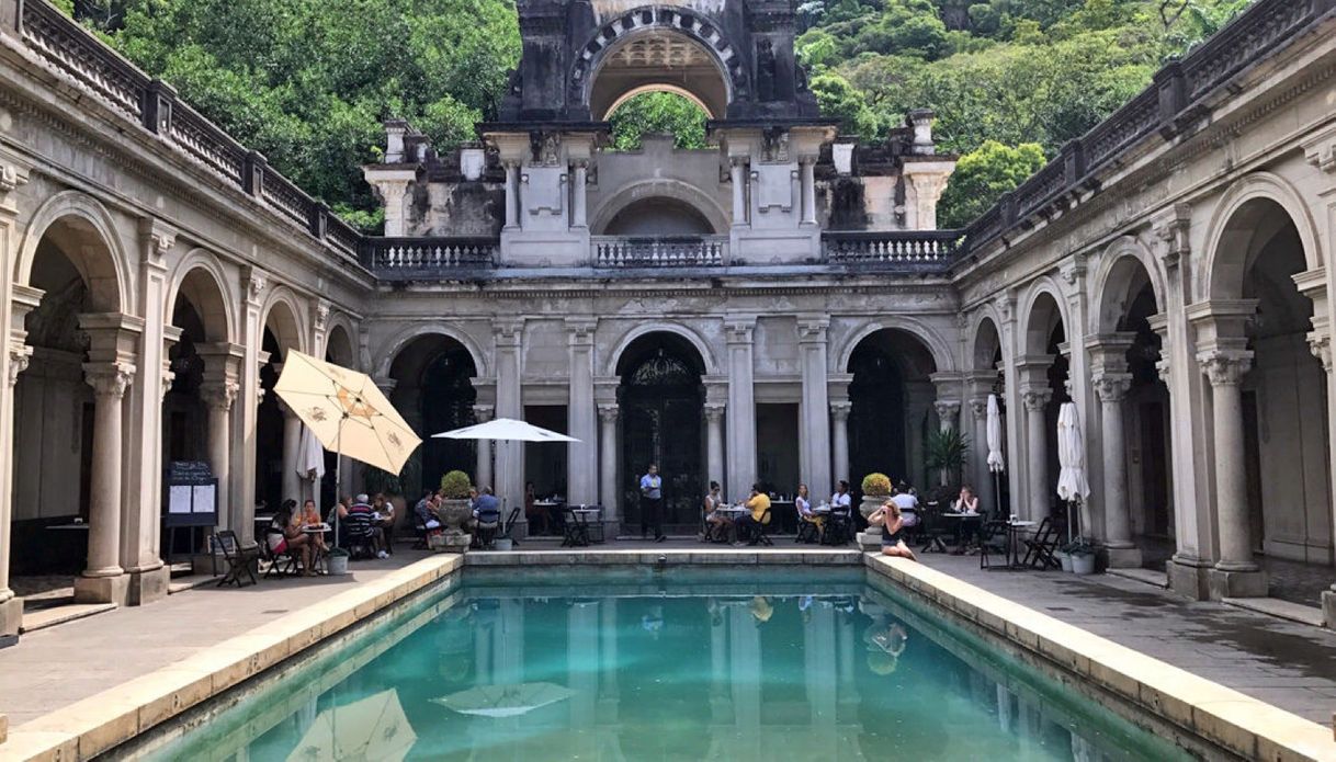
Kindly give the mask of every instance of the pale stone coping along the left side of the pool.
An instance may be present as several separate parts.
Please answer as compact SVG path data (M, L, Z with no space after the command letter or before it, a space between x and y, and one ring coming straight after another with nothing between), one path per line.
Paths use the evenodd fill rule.
M91 759L464 568L440 554L9 727L0 761Z

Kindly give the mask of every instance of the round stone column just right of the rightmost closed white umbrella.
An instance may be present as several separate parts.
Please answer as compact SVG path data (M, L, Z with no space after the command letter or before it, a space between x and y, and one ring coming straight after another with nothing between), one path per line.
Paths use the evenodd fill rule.
M1128 451L1122 431L1122 400L1132 388L1130 374L1102 374L1094 379L1104 431L1104 531L1109 566L1140 568L1141 551L1132 542L1128 506Z

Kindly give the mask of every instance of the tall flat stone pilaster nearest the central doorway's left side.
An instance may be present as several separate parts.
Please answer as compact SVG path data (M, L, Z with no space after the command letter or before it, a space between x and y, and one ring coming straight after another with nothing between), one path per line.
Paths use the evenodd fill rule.
M577 191L578 195L578 191ZM593 318L566 318L570 344L566 420L572 442L566 458L566 498L577 504L599 502L599 423L593 402Z

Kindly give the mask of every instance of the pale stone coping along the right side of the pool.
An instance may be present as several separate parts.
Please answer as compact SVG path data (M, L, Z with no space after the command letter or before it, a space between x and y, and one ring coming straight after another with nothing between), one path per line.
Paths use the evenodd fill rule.
M864 566L953 614L1248 759L1336 759L1316 722L1121 646L921 563L864 555Z

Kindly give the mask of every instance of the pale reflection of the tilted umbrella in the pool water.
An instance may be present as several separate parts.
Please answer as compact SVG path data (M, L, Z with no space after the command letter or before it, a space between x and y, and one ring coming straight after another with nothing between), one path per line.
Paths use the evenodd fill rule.
M287 762L399 761L415 742L399 694L391 689L319 713Z

